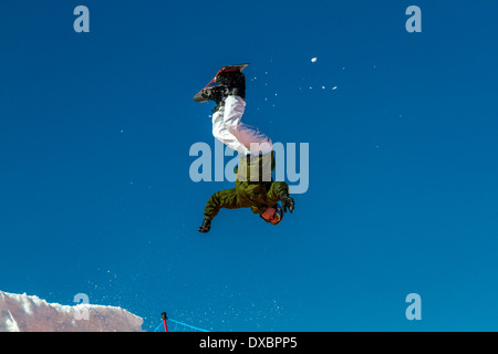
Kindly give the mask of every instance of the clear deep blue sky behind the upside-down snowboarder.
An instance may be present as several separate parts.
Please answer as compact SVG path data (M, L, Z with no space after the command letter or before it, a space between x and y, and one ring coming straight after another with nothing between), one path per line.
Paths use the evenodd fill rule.
M216 331L498 330L497 12L2 0L0 290L86 293L145 329L167 311ZM190 146L214 146L193 95L241 62L245 121L310 144L310 187L278 227L222 210L205 236L231 185L189 178Z

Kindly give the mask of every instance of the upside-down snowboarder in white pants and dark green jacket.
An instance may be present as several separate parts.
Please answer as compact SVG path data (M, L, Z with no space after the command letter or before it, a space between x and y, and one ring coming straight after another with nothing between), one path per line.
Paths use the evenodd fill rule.
M196 102L214 101L217 104L212 110L212 135L240 154L235 169L236 187L219 190L209 198L200 232L209 231L221 208L251 208L270 225L278 225L283 212L294 210L289 186L271 178L274 152L270 138L241 123L246 108L246 77L241 70L246 66L224 67L214 79L217 86L205 87L194 96Z

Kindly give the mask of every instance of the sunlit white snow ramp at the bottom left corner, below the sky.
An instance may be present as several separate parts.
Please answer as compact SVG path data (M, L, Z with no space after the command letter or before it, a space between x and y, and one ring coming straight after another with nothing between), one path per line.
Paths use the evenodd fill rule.
M121 308L61 305L0 291L0 332L143 332L143 322Z

